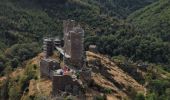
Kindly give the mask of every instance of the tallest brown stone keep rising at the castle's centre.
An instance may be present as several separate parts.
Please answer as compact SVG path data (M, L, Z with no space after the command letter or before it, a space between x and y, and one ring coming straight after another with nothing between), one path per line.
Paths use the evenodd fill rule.
M64 21L64 51L75 67L83 66L84 30L74 20Z

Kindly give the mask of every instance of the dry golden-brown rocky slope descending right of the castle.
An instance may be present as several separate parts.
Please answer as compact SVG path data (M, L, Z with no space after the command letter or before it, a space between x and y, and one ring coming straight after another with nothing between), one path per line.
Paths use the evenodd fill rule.
M139 84L133 77L129 76L125 71L120 69L113 61L104 55L87 52L87 61L93 69L94 82L104 88L111 89L115 96L121 98L133 98L133 93L144 94L146 88ZM98 62L97 65L90 62ZM131 91L132 89L132 91ZM99 89L100 90L100 89Z

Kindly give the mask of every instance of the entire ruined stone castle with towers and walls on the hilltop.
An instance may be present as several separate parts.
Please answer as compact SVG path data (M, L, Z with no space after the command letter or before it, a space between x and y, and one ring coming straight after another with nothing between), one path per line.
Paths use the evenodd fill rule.
M84 30L73 20L64 21L63 26L64 46L58 38L44 39L45 57L40 61L40 73L52 80L53 95L59 91L80 95L83 85L91 79L91 69L84 66ZM64 65L50 58L54 48L62 55Z

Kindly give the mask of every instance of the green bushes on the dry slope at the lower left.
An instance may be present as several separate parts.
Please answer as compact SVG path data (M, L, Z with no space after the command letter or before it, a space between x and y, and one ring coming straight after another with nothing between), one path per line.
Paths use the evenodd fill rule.
M5 88L1 89L1 92L3 91L2 96L6 95L6 98L10 100L19 100L23 93L29 91L29 82L32 79L37 79L36 67L35 65L27 65L23 74L7 79L4 85Z

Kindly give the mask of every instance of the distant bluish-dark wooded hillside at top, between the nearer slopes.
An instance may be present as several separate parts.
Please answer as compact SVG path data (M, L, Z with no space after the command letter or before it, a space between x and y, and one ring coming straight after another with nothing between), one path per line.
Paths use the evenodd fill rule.
M74 1L74 0L73 0ZM156 0L79 0L100 8L101 14L126 18L130 13L149 5Z

